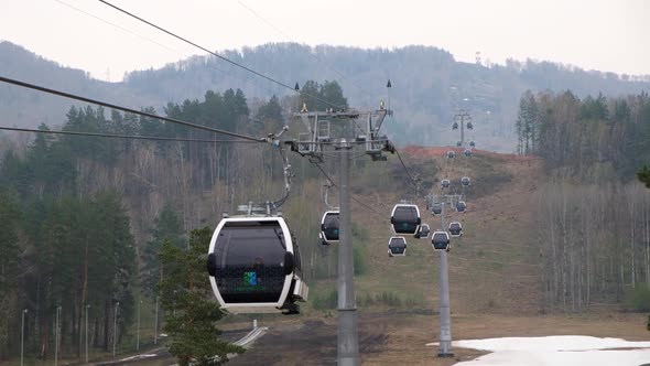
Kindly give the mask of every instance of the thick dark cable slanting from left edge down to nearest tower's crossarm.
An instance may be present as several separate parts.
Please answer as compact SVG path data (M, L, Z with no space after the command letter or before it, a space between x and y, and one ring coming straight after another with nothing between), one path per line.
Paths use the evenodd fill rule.
M34 84L29 84L29 83L24 83L24 82L20 82L20 80L8 78L8 77L3 77L3 76L0 76L0 82L7 83L7 84L13 84L13 85L17 85L17 86L21 86L21 87L24 87L24 88L34 89L34 90L39 90L39 92L43 92L43 93L47 93L47 94L52 94L52 95L56 95L56 96L64 97L64 98L69 98L69 99L75 99L75 100L79 100L79 101L85 101L85 103L94 104L94 105L97 105L97 106L102 106L102 107L106 107L106 108L117 109L117 110L130 112L130 114L133 114L133 115L139 115L139 116L143 116L143 117L159 119L159 120L163 120L163 121L170 122L170 123L182 125L182 126L186 126L186 127L196 128L196 129L199 129L199 130L205 130L205 131L221 133L221 134L230 136L230 137L238 138L238 139L249 140L249 141L267 142L267 139L264 139L264 138L256 138L256 137L246 136L246 134L236 133L236 132L230 132L230 131L226 131L226 130L220 130L220 129L216 129L216 128L212 128L212 127L207 127L207 126L196 125L196 123L187 122L187 121L184 121L184 120L181 120L181 119L158 116L158 115L150 114L150 112L147 112L147 111L141 111L141 110L137 110L137 109L132 109L132 108L127 108L127 107L122 107L122 106L118 106L118 105L113 105L113 104L110 104L110 103L106 103L106 101L101 101L101 100L97 100L97 99L91 99L91 98L87 98L87 97L82 97L82 96L78 96L78 95L74 95L74 94L69 94L69 93L65 93L65 92L61 92L61 90L50 89L50 88L46 88L46 87L43 87L43 86L39 86L39 85L34 85Z

